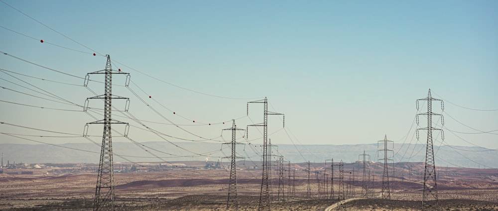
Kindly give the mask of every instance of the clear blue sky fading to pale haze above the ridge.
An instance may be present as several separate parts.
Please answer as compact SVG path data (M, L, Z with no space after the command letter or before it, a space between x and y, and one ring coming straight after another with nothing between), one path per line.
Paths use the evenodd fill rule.
M283 116L268 117L273 144L384 135L425 143L415 131L427 118L417 126L415 116L426 101L417 111L416 100L431 89L444 100L444 110L432 106L444 116L444 127L433 117L444 130L434 144L497 149L497 8L492 0L1 0L0 86L8 89L0 90L0 121L9 124L0 125L0 143L88 142L74 134L103 118L102 101L89 100L91 112L81 106L103 94L104 76L82 85L110 55L131 79L126 88L126 76L113 75L113 95L130 100L128 112L125 100L113 100L113 119L129 122L138 142L228 141L222 129L232 119L243 129L263 121L262 104L249 104L249 115L247 106L267 97L269 111L285 114L285 127ZM261 133L249 127L238 138L261 144ZM101 142L102 125L90 124L88 135Z

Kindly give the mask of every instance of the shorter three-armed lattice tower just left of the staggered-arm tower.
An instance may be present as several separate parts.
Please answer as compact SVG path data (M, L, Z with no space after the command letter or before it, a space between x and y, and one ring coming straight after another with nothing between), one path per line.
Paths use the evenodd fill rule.
M232 144L232 156L229 157L224 157L224 158L231 158L232 159L232 164L230 165L230 182L228 185L228 198L227 198L227 210L230 208L230 205L233 205L236 209L239 208L239 200L237 198L237 167L235 165L235 159L236 158L243 158L235 155L235 145L236 144L242 144L242 143L237 143L235 142L235 137L236 137L236 131L237 130L244 130L237 128L235 125L235 119L232 119L232 127L223 129L223 130L232 130L232 142L230 143L224 143L224 144Z

